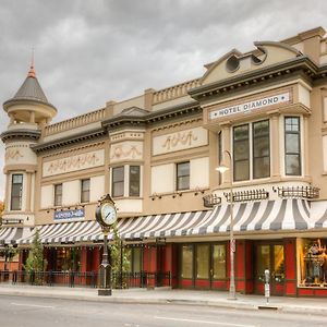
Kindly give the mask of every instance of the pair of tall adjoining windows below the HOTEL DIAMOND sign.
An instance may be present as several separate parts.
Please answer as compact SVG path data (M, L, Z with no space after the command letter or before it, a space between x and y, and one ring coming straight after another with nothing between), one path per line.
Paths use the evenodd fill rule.
M233 128L233 172L234 181L270 175L269 120Z

